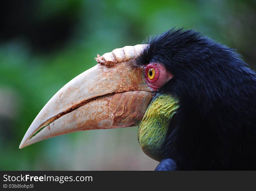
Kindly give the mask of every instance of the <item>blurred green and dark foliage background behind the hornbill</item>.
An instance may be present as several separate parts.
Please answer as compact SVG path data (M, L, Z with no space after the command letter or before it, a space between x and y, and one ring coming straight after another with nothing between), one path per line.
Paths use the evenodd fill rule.
M1 1L0 170L154 170L137 127L91 130L20 150L47 101L96 64L97 54L139 44L173 26L237 49L256 69L256 1Z

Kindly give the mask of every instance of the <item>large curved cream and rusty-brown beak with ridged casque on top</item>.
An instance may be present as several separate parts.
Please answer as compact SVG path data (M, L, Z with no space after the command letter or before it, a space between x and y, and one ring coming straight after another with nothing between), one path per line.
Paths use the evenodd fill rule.
M145 46L125 46L98 55L96 66L72 79L47 102L19 148L71 132L122 128L141 121L152 90L132 62Z

